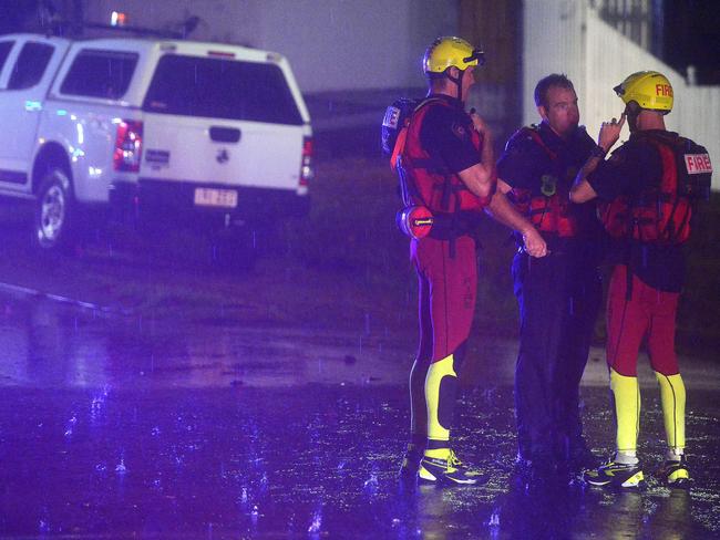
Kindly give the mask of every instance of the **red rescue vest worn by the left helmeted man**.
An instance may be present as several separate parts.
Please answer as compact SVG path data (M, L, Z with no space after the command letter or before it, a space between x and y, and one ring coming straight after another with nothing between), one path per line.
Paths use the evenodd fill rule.
M457 174L450 173L445 165L431 158L420 144L420 131L423 120L433 106L451 105L440 98L424 100L410 117L409 124L401 131L390 159L393 169L399 170L403 184L405 205L425 206L433 215L455 214L459 211L480 212L491 196L477 197L460 179ZM470 134L473 146L480 154L483 141L475 131L472 122L464 126Z

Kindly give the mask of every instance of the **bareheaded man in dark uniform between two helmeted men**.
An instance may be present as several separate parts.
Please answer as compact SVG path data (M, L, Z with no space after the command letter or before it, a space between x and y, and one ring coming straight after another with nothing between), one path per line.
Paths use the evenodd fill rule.
M512 269L520 307L517 465L521 472L545 478L558 466L572 471L595 464L578 402L603 292L595 205L568 200L595 143L578 125L577 95L565 75L542 79L535 104L542 122L510 138L497 175L548 248L542 260L520 249Z

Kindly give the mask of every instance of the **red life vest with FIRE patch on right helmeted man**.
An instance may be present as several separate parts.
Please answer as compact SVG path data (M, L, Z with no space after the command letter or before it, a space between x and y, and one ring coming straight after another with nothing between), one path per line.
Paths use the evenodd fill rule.
M702 146L670 132L639 132L635 141L658 152L662 176L657 186L635 196L600 204L600 220L614 238L682 243L690 237L692 199L709 196L710 156Z

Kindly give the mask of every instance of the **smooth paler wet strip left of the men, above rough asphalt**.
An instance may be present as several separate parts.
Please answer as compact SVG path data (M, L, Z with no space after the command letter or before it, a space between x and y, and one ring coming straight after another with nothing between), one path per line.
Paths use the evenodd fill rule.
M288 386L405 378L385 341L302 328L148 321L0 295L0 385L37 387ZM351 359L351 361L349 361Z

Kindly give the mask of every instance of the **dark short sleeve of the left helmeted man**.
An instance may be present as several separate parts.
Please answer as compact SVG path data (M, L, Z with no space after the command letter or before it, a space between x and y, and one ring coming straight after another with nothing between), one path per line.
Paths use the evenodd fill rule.
M469 132L472 123L467 121L467 115L462 111L434 106L425 114L420 129L423 148L451 173L460 173L481 163Z

